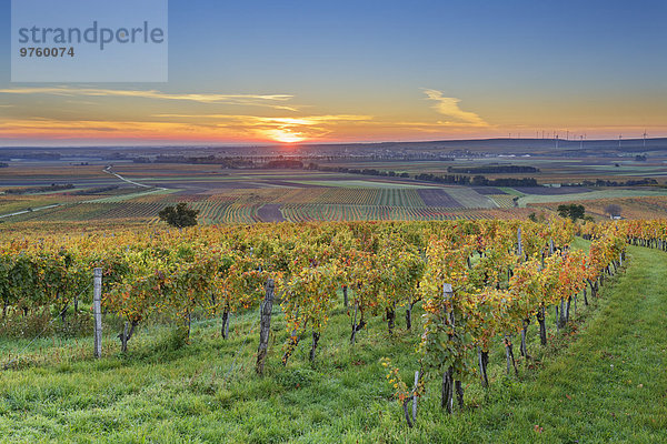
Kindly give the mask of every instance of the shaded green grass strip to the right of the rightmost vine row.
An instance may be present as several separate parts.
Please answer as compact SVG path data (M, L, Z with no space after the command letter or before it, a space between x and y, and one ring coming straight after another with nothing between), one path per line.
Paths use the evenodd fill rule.
M577 341L484 408L479 422L498 423L489 433L475 424L470 437L527 441L538 425L546 442L667 441L667 255L631 249L631 261Z

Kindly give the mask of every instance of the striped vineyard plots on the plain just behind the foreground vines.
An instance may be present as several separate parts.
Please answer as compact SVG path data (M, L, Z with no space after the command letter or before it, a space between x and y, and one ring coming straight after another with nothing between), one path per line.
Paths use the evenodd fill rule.
M178 202L188 202L191 208L199 210L199 223L209 225L282 221L301 223L512 220L527 218L532 212L554 214L559 204L573 200L581 200L587 213L598 219L607 218L605 209L610 204L620 206L624 219L660 218L667 211L666 199L653 190L591 191L575 186L499 189L412 184L399 186L398 183L365 184L362 181L345 180L329 180L325 185L325 182L296 184L289 182L287 175L258 174L252 178L266 182L250 182L239 186L266 188L121 188L101 194L86 194L94 189L76 189L71 193L58 192L48 195L0 195L0 208L4 209L4 214L0 215L7 216L0 220L6 223L88 221L98 225L123 221L155 224L161 209ZM197 178L190 179L195 181ZM200 183L200 180L202 179L197 179L195 183ZM296 185L302 188L295 188ZM633 196L616 198L621 194ZM588 195L610 198L583 200ZM38 211L32 211L33 209ZM11 215L12 212L20 214Z

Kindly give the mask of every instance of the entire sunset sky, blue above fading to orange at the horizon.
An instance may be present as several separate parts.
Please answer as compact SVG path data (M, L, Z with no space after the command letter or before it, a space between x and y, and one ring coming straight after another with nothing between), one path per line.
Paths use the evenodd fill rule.
M157 83L11 82L10 4L0 145L667 137L664 0L170 0Z

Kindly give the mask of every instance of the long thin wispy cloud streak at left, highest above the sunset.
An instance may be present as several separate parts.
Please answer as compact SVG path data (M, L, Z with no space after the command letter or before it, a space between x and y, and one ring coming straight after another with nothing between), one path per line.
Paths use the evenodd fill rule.
M49 94L62 97L121 97L148 100L180 100L197 103L233 104L249 107L268 107L279 110L296 111L297 108L287 104L293 95L290 94L212 94L212 93L167 93L157 90L112 90L98 88L12 88L0 89L0 94Z

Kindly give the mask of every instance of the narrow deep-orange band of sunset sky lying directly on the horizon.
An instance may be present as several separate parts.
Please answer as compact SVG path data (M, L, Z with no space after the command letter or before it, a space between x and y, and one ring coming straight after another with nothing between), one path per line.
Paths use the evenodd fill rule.
M241 119L242 118L242 119ZM268 144L285 143L355 143L355 142L385 142L385 141L434 141L451 139L490 139L507 138L511 132L518 137L516 128L468 129L452 128L428 122L372 122L368 120L331 121L315 118L297 120L286 123L282 118L246 118L221 124L193 119L181 121L110 121L110 120L50 120L50 119L12 119L0 120L0 145L53 142L64 144L68 141L77 144L103 143L242 143ZM328 118L327 118L328 119ZM597 129L580 129L588 139L616 139L623 133L624 138L641 138L647 131L651 138L664 137L664 127L600 127ZM575 138L576 130L570 130ZM565 131L558 131L563 138ZM516 134L516 135L515 135ZM537 138L541 133L537 130L521 128L524 138ZM547 135L547 139L549 135ZM570 139L571 140L571 139Z

